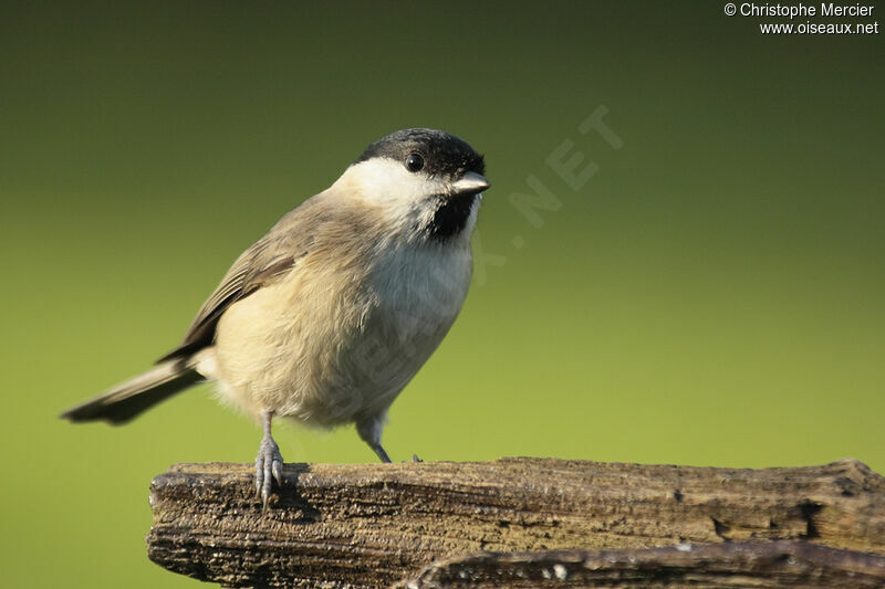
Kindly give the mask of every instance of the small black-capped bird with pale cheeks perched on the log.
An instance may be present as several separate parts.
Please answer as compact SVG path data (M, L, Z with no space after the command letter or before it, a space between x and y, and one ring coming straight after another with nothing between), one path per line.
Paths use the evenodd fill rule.
M353 422L389 462L387 410L467 296L483 173L482 156L448 133L378 139L237 259L180 346L61 417L119 424L212 380L263 425L256 491L264 508L272 480L282 485L274 417Z

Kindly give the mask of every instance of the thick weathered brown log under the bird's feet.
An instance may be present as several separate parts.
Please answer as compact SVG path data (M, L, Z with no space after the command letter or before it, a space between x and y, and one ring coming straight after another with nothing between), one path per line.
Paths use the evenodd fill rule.
M647 564L647 576L659 568L726 578L752 569L784 587L784 575L801 579L795 567L803 566L815 578L885 582L885 478L856 461L737 470L503 459L288 464L283 474L282 491L262 513L251 465L173 466L152 484L150 558L227 587L386 587L406 578L415 587L502 587L519 583L493 585L498 577L488 571L502 571L503 582L520 570L543 579L546 570L552 581L561 580L558 564L569 575L595 569L611 581L644 566L636 562ZM806 543L742 544L779 539ZM720 546L685 550L687 544ZM635 550L677 545L681 550ZM549 553L574 549L585 551ZM598 549L627 551L586 551ZM480 551L548 554L465 557ZM449 571L461 585L434 580ZM566 585L589 586L586 575L575 572Z

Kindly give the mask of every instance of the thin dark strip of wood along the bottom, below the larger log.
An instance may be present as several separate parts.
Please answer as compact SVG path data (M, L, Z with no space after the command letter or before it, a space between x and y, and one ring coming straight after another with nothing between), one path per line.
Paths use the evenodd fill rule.
M561 587L885 586L885 558L804 541L681 544L669 548L485 554L434 562L395 589Z

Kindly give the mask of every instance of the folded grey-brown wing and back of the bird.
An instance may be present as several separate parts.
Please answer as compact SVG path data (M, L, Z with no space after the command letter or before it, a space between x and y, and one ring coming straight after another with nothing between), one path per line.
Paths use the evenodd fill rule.
M313 242L313 230L324 221L316 214L321 194L290 211L233 263L221 283L200 307L180 346L157 360L187 358L211 346L218 319L230 305L272 284L303 257Z

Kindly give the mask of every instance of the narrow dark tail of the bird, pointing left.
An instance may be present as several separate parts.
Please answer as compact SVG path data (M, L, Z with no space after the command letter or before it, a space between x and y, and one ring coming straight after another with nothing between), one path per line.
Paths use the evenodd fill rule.
M205 378L199 372L180 359L165 361L95 399L69 409L60 417L71 421L104 420L115 425L125 423L202 380Z

